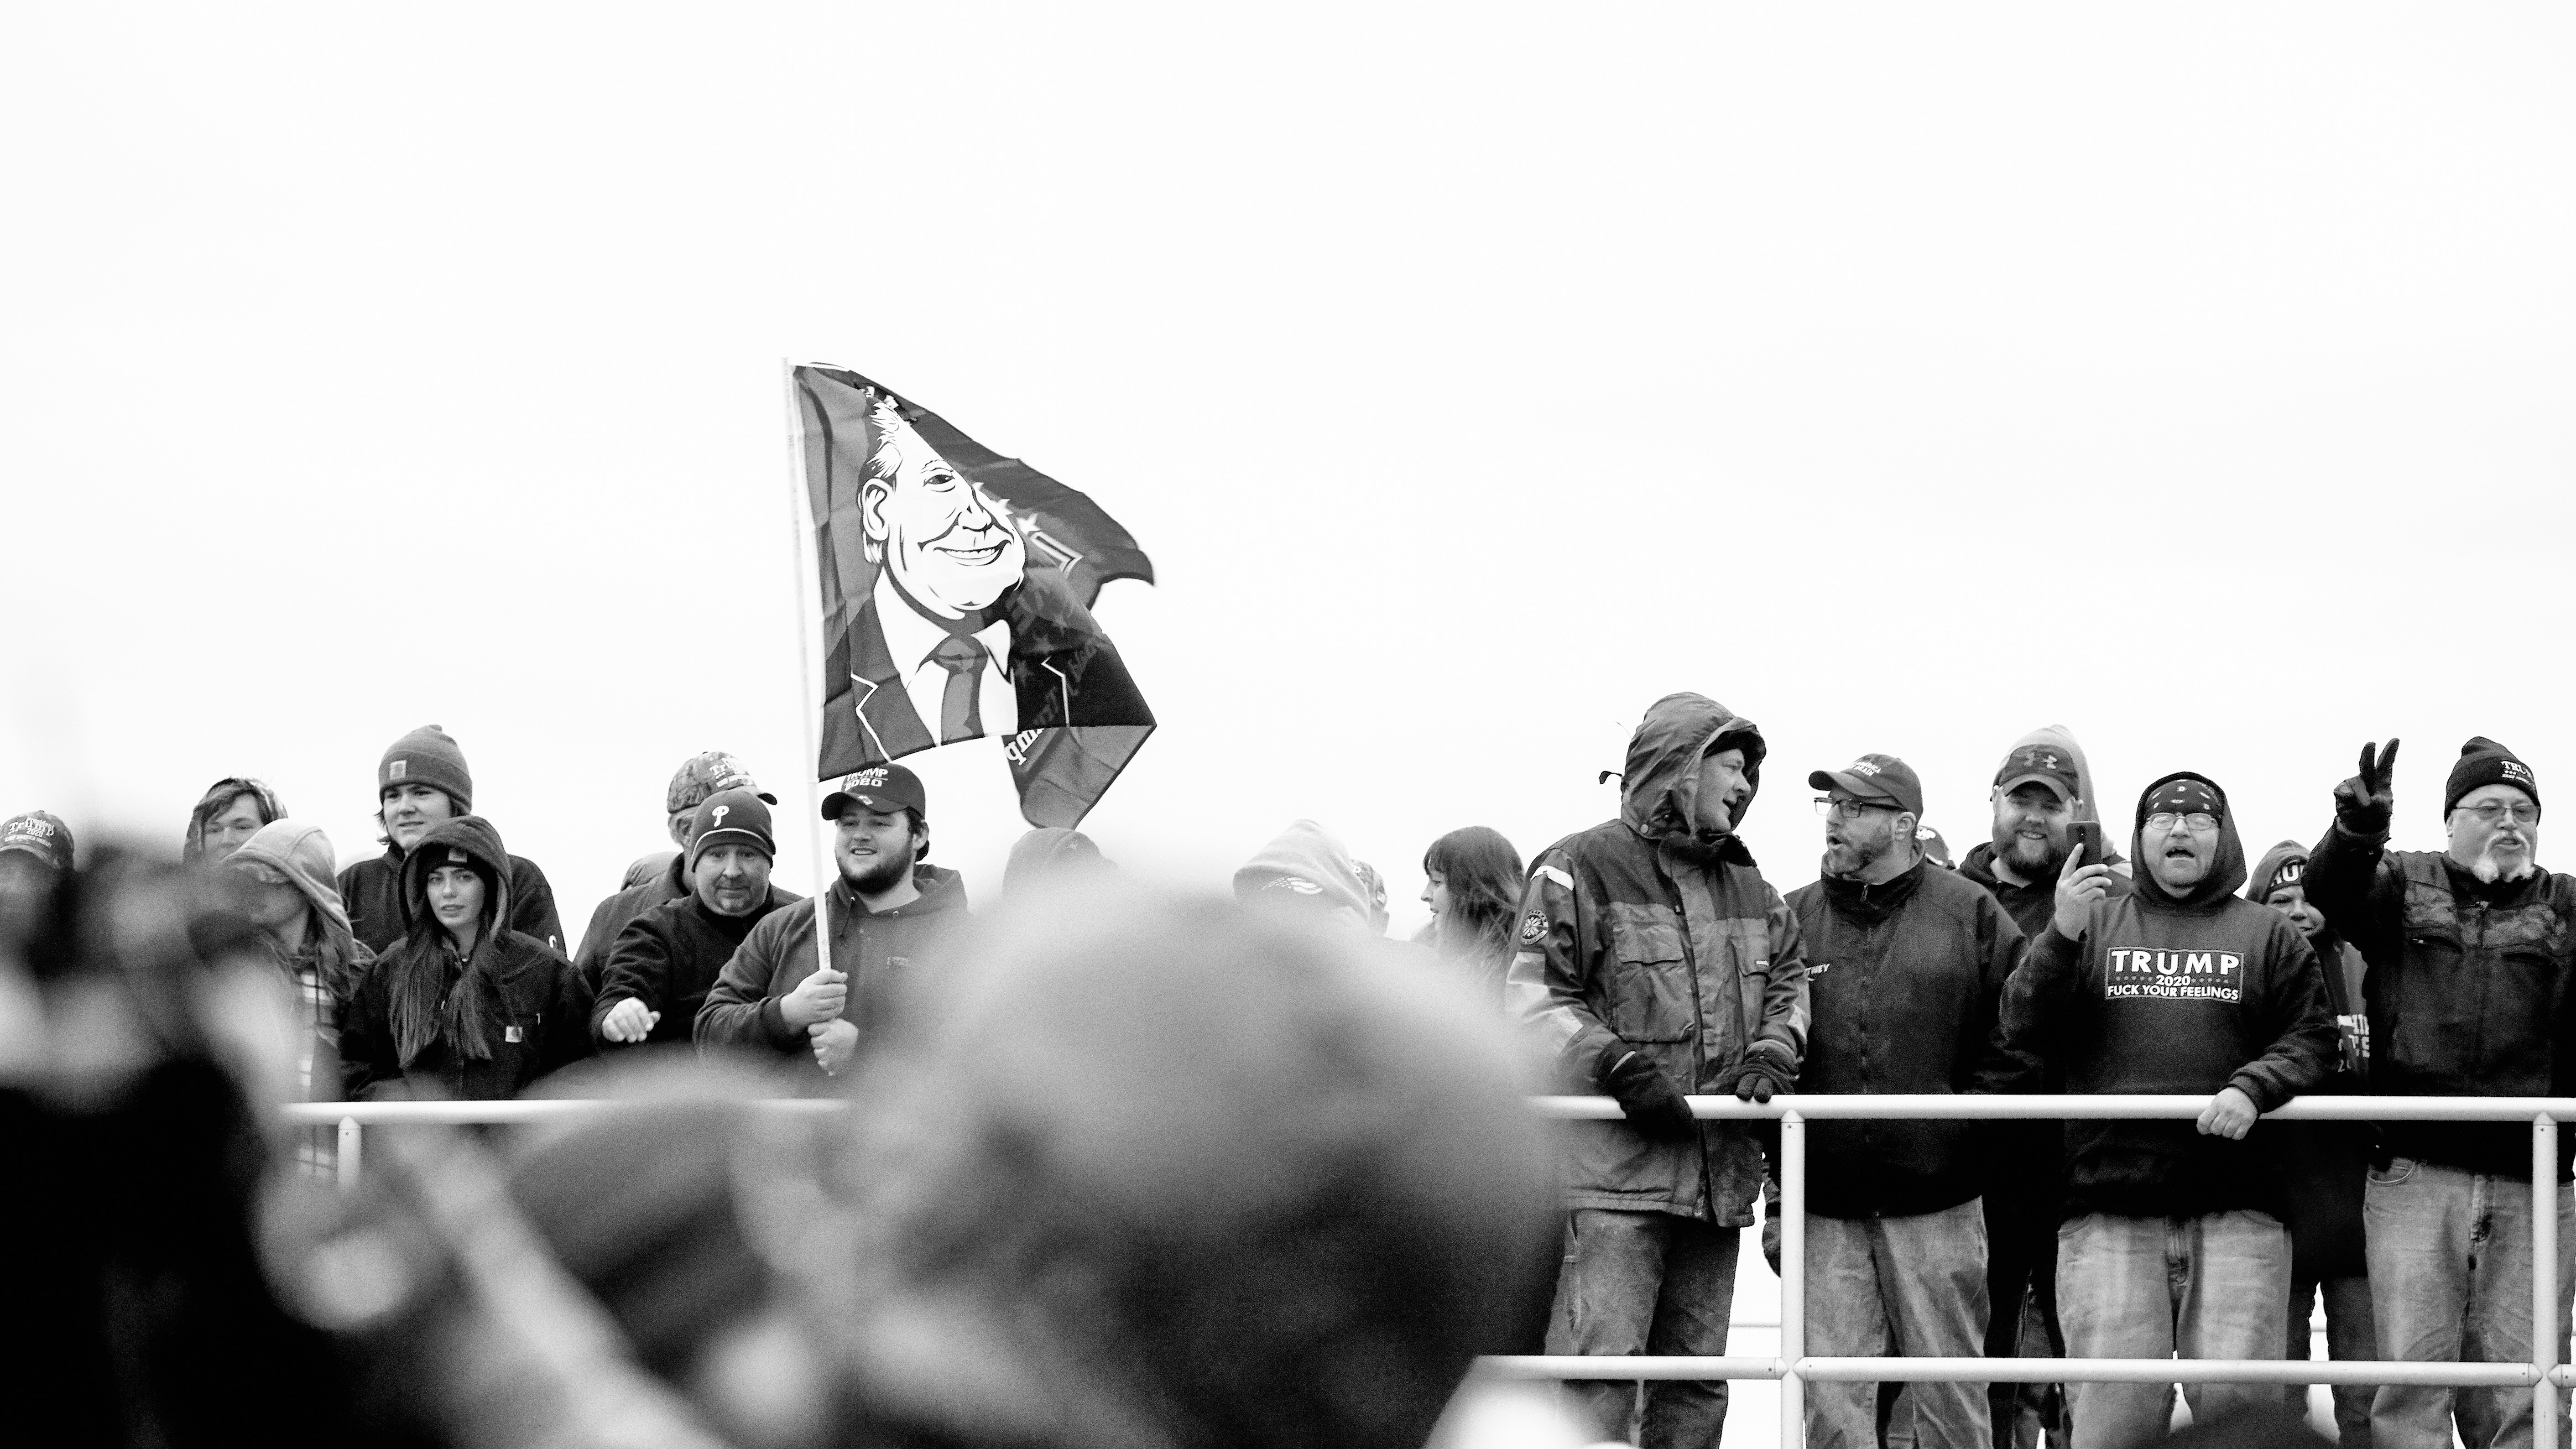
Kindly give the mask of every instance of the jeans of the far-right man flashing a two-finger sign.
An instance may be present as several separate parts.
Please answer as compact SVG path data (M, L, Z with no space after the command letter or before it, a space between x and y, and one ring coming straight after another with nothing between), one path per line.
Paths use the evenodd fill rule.
M2370 1233L2370 1315L2380 1354L2406 1361L2532 1356L2532 1184L2393 1158L2362 1194ZM2558 1359L2566 1361L2568 1292L2576 1289L2576 1197L2558 1184ZM2458 1400L2452 1398L2458 1392ZM2568 1400L2558 1398L2558 1441ZM2468 1449L2524 1449L2530 1390L2380 1385L2370 1400L2375 1449L2447 1449L2452 1418Z

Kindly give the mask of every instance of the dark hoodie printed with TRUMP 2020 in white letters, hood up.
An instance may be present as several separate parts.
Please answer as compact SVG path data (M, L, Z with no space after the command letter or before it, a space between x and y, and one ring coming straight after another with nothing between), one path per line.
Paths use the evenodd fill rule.
M2071 1094L2244 1091L2259 1112L2308 1091L2334 1060L2316 950L2269 906L2236 896L2246 852L2226 793L2177 772L2138 795L2130 854L2143 857L2146 800L2169 780L2218 795L2208 872L2184 893L2146 862L2128 896L2094 901L2081 939L2050 924L2004 991L2012 1086L2061 1063ZM2066 1125L2066 1215L2200 1217L2282 1212L2269 1171L2269 1125L2231 1143L2172 1120Z

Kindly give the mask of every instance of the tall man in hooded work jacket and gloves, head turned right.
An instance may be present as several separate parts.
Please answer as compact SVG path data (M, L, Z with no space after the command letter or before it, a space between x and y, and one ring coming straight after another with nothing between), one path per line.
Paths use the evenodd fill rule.
M1556 1053L1566 1091L1623 1122L1574 1122L1566 1259L1551 1354L1723 1354L1736 1235L1754 1220L1749 1122L1700 1122L1687 1094L1770 1102L1806 1053L1798 916L1736 836L1762 731L1703 695L1664 695L1628 741L1615 821L1530 862L1504 1006ZM1602 1439L1716 1444L1723 1382L1584 1382Z

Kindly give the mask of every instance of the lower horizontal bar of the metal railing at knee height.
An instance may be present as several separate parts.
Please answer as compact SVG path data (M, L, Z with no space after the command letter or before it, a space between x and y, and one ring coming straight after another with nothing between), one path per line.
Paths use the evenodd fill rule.
M1476 1372L1502 1380L1777 1380L1780 1359L1649 1354L1497 1354ZM2432 1385L2530 1387L2530 1364L2393 1364L2367 1359L1798 1359L1801 1380L1971 1385ZM2555 1377L2555 1374L2553 1374ZM2566 1380L2558 1380L2566 1382Z

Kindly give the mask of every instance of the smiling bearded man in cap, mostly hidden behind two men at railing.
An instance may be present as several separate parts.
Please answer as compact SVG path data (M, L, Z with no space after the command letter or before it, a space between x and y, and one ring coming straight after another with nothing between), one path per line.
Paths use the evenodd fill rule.
M2012 741L1994 772L1994 839L1958 862L1958 872L2002 901L2004 914L2038 939L2058 909L2058 870L2076 821L2099 821L2092 764L2066 726L2043 726ZM2107 896L2128 896L2128 862L2110 852ZM2043 1091L2063 1091L2061 1078ZM1986 1179L1986 1356L2058 1359L2058 1204L2066 1197L2066 1130L2061 1122L1994 1122L1986 1130L1994 1176ZM1994 1385L1994 1449L2035 1449L2043 1431L2066 1444L2061 1385Z

